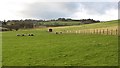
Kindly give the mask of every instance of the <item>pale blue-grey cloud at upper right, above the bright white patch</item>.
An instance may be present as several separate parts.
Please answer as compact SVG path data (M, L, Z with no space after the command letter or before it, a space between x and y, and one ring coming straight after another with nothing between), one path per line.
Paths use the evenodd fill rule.
M81 4L88 14L105 14L107 10L118 9L117 2L85 2Z

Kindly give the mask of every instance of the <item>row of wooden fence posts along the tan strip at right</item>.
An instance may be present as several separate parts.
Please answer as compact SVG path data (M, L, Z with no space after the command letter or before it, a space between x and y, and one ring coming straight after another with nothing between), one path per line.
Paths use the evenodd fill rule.
M118 35L118 29L86 29L86 30L67 30L65 33L76 34L104 34L104 35Z

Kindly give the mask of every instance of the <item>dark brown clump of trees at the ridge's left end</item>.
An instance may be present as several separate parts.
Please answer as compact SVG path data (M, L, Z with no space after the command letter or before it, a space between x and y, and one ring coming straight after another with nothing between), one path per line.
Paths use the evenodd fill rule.
M33 23L35 23L35 21L32 21L32 20L8 20L8 21L3 21L2 22L2 27L4 29L2 31L12 31L12 30L18 31L19 29L33 28Z

